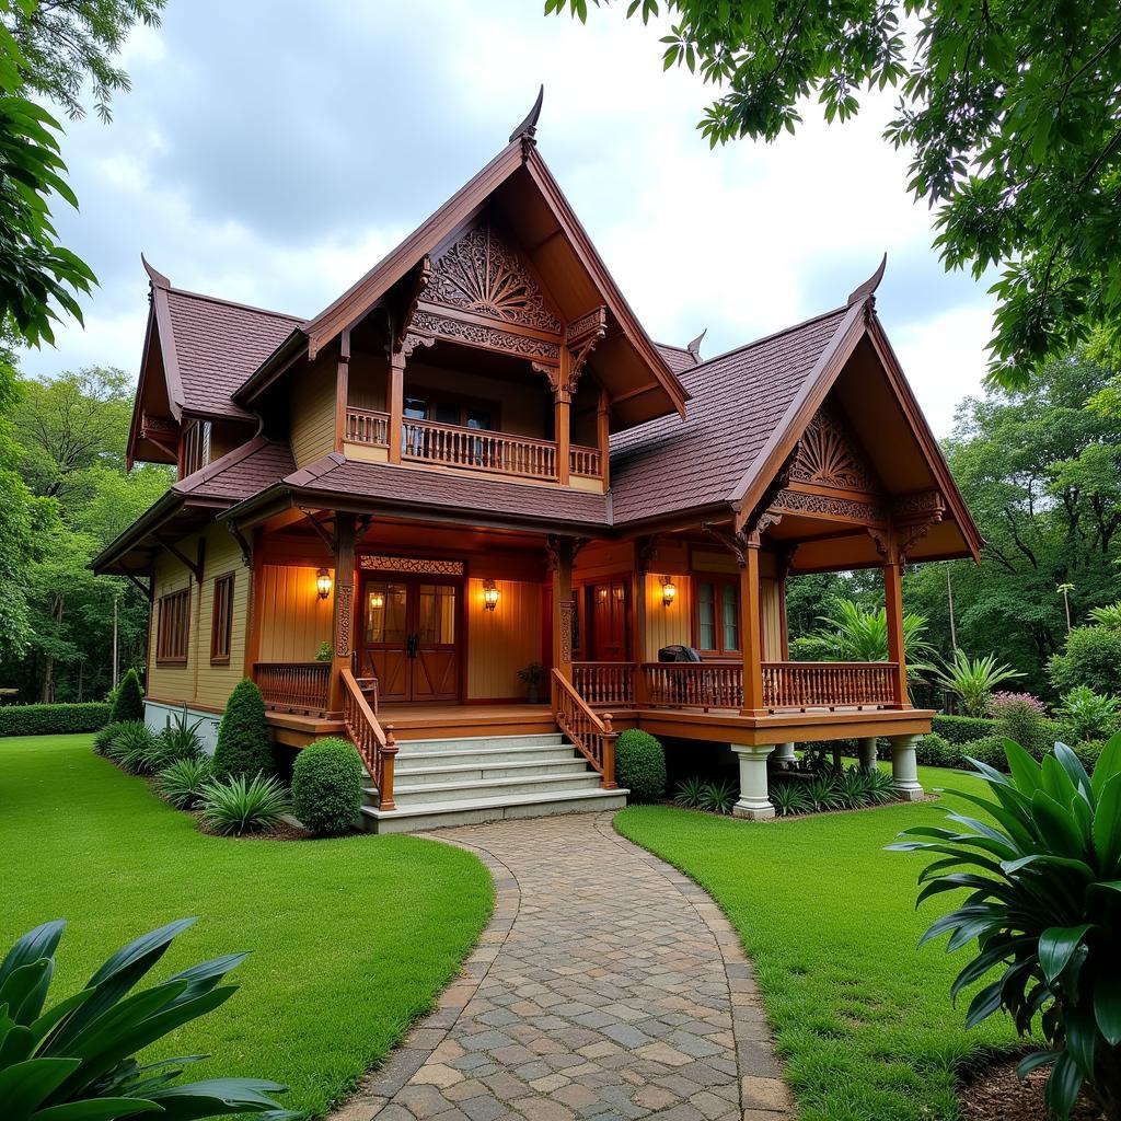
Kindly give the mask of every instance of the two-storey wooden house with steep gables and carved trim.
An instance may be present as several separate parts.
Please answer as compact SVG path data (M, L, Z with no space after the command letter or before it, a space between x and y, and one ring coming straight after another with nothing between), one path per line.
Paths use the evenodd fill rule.
M917 796L900 577L981 540L876 314L883 266L717 358L655 343L537 109L313 318L146 262L129 456L177 481L95 568L150 596L149 722L216 723L251 677L278 742L353 740L377 830L621 804L624 728L731 744L741 816L808 740L888 736ZM788 578L867 567L888 660L791 661Z

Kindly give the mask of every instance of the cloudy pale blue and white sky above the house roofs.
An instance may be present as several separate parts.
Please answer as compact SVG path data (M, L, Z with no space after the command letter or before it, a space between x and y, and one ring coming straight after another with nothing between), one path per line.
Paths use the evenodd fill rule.
M67 124L82 202L63 243L101 281L34 373L136 373L147 278L311 316L503 147L545 83L539 149L650 334L729 350L844 303L888 253L878 307L935 430L979 389L992 300L946 275L893 98L796 137L711 151L711 89L664 74L657 29L541 0L169 0L130 38L113 122Z

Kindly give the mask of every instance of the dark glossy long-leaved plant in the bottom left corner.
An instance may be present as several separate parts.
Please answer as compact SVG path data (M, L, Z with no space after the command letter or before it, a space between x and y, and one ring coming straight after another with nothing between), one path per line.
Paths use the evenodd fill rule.
M202 1056L141 1064L136 1055L180 1025L225 1003L237 985L221 982L244 954L192 966L132 993L193 918L170 923L119 949L85 988L46 1008L55 949L65 923L25 934L0 964L0 1104L4 1121L114 1121L161 1113L175 1121L260 1113L296 1118L271 1094L287 1087L260 1078L176 1080Z

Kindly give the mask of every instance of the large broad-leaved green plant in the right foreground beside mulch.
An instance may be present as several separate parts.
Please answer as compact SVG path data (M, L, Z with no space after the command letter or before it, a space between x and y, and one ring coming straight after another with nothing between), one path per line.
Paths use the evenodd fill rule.
M957 997L994 970L970 1002L966 1027L1001 1010L1027 1035L1038 1020L1045 1050L1021 1076L1050 1066L1047 1106L1066 1119L1085 1087L1110 1121L1121 1119L1121 735L1105 745L1093 777L1056 743L1037 763L1004 741L1010 773L971 759L992 798L962 791L994 825L949 813L954 827L916 825L900 852L936 853L919 876L918 902L965 889L920 945L948 934L947 952L976 945L957 974Z

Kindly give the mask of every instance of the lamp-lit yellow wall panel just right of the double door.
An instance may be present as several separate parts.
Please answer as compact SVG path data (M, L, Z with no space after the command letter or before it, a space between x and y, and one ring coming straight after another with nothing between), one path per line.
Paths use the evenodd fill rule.
M483 606L483 582L466 582L469 701L526 695L518 670L541 660L541 585L495 581L498 606Z

